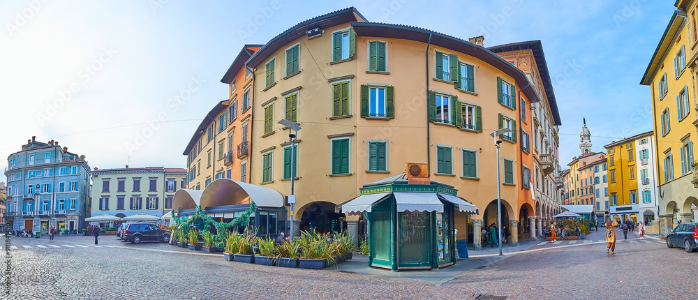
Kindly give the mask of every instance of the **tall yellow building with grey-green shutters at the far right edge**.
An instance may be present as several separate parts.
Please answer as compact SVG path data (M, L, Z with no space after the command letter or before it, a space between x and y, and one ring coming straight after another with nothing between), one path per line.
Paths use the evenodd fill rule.
M698 182L693 160L698 134L696 5L676 1L679 10L671 16L640 82L651 87L662 235L678 220L695 219L692 209L698 204L693 184Z

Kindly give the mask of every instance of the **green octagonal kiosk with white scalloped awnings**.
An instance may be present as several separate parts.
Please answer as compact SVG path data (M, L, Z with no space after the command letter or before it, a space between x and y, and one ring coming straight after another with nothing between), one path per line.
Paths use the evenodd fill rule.
M340 204L343 213L369 221L369 267L438 269L456 262L454 212L477 213L453 186L429 180L410 184L406 174L367 183L359 197Z

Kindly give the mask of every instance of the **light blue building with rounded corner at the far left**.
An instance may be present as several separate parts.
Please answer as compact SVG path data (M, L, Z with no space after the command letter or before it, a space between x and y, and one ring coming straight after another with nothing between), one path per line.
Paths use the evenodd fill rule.
M6 224L46 233L50 227L79 232L89 217L91 173L84 155L58 142L22 145L8 156Z

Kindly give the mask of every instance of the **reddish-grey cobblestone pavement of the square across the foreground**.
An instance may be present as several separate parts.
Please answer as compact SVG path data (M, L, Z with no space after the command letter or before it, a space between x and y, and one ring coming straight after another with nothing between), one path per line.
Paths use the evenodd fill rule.
M698 280L686 274L698 267L698 253L668 249L658 239L629 234L628 240L618 241L616 254L611 255L605 251L606 244L597 241L600 238L594 234L590 238L586 243L536 243L440 285L332 269L225 262L220 254L164 243L133 245L111 236L100 237L100 247L94 247L91 237L56 237L54 241L13 238L17 248L10 249L12 292L0 294L0 298L695 298Z

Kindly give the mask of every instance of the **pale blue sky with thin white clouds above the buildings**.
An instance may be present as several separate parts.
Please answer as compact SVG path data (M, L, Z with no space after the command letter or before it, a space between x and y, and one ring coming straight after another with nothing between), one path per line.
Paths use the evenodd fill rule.
M435 5L437 4L437 5ZM90 167L186 167L182 155L221 77L246 43L354 6L370 22L423 27L486 47L541 40L560 118L560 165L652 130L639 85L674 1L59 1L0 2L0 165L31 136ZM0 174L0 181L6 181Z

